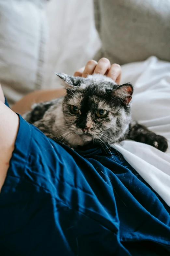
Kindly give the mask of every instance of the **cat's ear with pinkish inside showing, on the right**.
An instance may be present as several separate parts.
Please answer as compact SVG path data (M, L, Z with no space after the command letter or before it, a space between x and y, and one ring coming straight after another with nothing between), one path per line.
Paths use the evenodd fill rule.
M131 83L122 84L118 86L112 94L123 101L124 104L129 104L132 99L133 86Z

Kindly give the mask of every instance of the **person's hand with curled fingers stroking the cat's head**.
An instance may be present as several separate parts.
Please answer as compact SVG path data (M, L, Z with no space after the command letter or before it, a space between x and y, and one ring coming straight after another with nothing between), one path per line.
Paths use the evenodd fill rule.
M110 61L106 58L100 59L98 62L95 60L89 60L85 67L78 69L75 73L75 77L87 77L92 74L102 74L112 78L117 84L120 83L121 67L119 64L110 64Z

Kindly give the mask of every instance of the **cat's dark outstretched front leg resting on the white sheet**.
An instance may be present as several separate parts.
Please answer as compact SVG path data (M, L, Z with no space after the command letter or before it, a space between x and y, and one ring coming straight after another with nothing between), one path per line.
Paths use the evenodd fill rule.
M138 123L130 126L128 139L151 145L163 152L168 148L168 142L165 137L157 135Z

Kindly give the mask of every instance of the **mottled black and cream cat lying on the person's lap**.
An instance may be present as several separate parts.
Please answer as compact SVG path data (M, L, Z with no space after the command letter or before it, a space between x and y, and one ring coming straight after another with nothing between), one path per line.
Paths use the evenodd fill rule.
M72 148L91 142L113 144L130 139L165 152L167 140L131 121L131 83L116 84L101 74L72 77L56 73L66 95L34 104L24 115L46 136Z

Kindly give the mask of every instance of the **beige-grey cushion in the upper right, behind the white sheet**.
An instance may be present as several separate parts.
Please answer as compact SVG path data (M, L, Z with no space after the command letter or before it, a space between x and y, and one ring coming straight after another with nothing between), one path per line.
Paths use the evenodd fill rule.
M124 64L157 56L170 61L170 1L94 0L96 28L105 56Z

